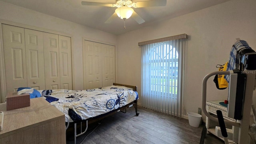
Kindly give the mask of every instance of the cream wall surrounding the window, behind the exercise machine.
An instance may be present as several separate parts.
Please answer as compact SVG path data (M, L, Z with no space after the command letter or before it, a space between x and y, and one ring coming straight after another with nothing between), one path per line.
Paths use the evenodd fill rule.
M138 42L188 34L184 66L184 117L202 106L202 80L218 70L216 64L229 59L236 38L246 40L256 50L256 1L230 0L190 14L164 20L118 36L117 82L141 85L141 48ZM226 99L228 90L218 90L208 80L207 100ZM254 92L254 104L256 104ZM140 101L139 101L140 102ZM205 116L203 116L205 119Z

